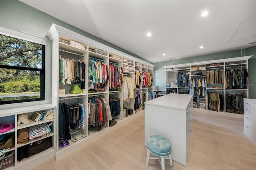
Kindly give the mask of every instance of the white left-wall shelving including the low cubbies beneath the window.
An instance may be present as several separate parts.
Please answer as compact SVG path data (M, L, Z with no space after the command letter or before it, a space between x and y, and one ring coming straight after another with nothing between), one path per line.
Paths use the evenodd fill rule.
M153 73L153 67L151 63L148 63L146 61L140 60L136 57L132 57L131 55L128 55L126 53L123 53L121 51L118 51L112 47L108 47L102 43L96 42L90 38L87 38L85 36L82 36L80 34L77 34L75 32L72 32L70 30L67 30L66 28L63 28L61 26L58 26L56 24L52 24L50 30L47 33L48 38L52 41L52 75L47 75L48 77L51 77L52 85L51 85L51 99L49 104L42 104L42 105L31 105L29 107L19 107L15 109L5 109L1 110L0 119L1 124L3 123L14 123L15 127L9 130L8 132L1 133L14 133L15 135L15 141L14 141L14 147L11 148L10 151L14 150L14 164L10 167L10 169L27 169L28 165L29 167L37 166L38 164L45 162L46 160L50 158L55 158L56 160L66 156L67 154L70 154L71 152L74 152L74 150L77 150L84 146L84 144L87 144L88 142L92 142L96 138L99 138L100 136L110 132L111 130L114 130L115 128L120 127L127 121L132 121L135 119L138 115L142 113L142 106L140 109L134 111L134 99L130 100L129 109L132 109L132 115L128 115L127 117L124 115L123 109L124 109L124 97L123 97L123 90L120 89L118 91L111 91L109 89L109 86L107 85L104 91L101 92L94 92L89 93L88 89L88 61L90 58L99 59L104 61L107 65L110 63L114 63L122 68L126 67L128 70L124 71L125 75L128 75L134 79L135 76L135 69L138 69L140 72L142 70ZM76 43L80 43L84 45L84 48L76 47L74 45L67 44L65 42L73 41ZM99 49L103 51L104 53L96 53L91 51L94 49ZM72 87L72 84L65 84L59 83L59 55L60 51L66 51L68 53L73 53L77 55L76 60L85 61L86 63L86 70L85 70L85 89L83 89L83 93L77 93L72 94L70 93L70 89ZM128 63L125 61L128 60ZM130 64L129 64L130 63ZM48 68L49 69L49 68ZM141 75L142 79L142 75ZM64 95L59 95L58 89L65 89ZM142 94L142 91L152 91L152 85L150 87L142 87L142 83L140 84L140 87L137 88L137 91ZM93 96L104 96L104 98L109 102L110 97L115 97L120 99L120 105L121 105L121 111L120 115L114 117L114 120L117 121L117 124L109 127L109 124L107 123L106 128L103 130L94 132L91 131L88 127L88 99ZM141 97L142 100L142 97ZM59 148L59 103L66 102L66 103L83 103L85 105L85 119L83 122L83 125L79 128L79 132L83 133L86 137L76 141L72 142L69 141L70 146L66 146L64 148ZM142 102L142 101L141 101ZM47 121L38 122L38 123L31 123L29 125L20 125L17 126L17 117L19 114L28 113L29 117L32 115L33 112L36 111L46 111L47 109L53 109L54 110L54 119L51 120L53 123L52 133L47 138L52 138L52 148L49 148L47 150L44 150L43 152L40 152L38 154L35 154L29 158L25 158L22 161L17 160L17 148L24 146L26 144L18 145L17 144L17 130L25 127L31 127L35 125L40 125L42 123L46 123ZM77 133L72 131L72 134ZM34 142L34 141L33 141ZM27 144L31 144L32 141L28 142ZM9 168L8 168L9 169Z

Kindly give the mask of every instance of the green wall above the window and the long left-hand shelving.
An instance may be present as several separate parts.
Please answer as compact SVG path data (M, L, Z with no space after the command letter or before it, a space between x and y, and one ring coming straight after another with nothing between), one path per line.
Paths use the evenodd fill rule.
M138 55L135 55L133 53L130 53L129 51L126 51L125 49L118 47L117 45L102 40L96 36L93 36L92 34L89 34L88 32L85 32L70 24L67 24L66 22L62 22L61 20L58 20L57 18L54 18L40 10L32 8L31 6L28 6L23 2L20 2L18 0L0 0L1 27L15 31L22 30L25 32L29 32L30 34L45 37L53 23L62 26L68 30L72 30L73 32L76 32L83 36L86 36L97 42L103 43L109 47L122 51L128 55L131 55L138 59L142 59L143 61L146 61L148 63L152 63L151 61L148 61ZM47 41L47 43L50 44L49 46L51 46L50 41ZM51 49L46 50L51 51Z

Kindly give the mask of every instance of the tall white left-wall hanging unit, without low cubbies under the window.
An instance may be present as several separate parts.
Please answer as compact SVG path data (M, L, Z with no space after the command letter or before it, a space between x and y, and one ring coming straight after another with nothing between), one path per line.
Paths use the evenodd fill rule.
M110 130L113 130L114 128L118 127L119 125L122 125L122 123L124 123L126 120L129 120L129 119L132 120L136 117L136 115L138 115L139 113L142 113L141 112L142 107L140 107L140 109L138 111L134 111L134 99L131 99L128 108L133 110L133 114L128 115L128 117L126 117L124 115L123 89L120 89L119 91L111 91L111 89L109 89L109 87L107 85L107 87L104 91L88 93L88 90L89 90L88 89L88 60L89 59L91 59L91 58L100 59L100 60L104 61L104 63L106 63L107 65L114 63L123 68L124 75L132 77L133 79L135 76L135 73L134 73L135 69L139 69L140 71L142 71L142 69L143 69L142 66L145 66L145 67L147 67L147 69L150 68L147 71L150 71L152 73L154 65L147 63L145 61L142 61L140 59L137 59L135 57L132 57L130 55L127 55L126 53L122 53L122 52L120 52L116 49L113 49L111 47L108 47L102 43L98 43L94 40L86 38L80 34L76 34L70 30L62 28L55 24L52 25L47 36L52 41L52 65L56 65L56 66L59 65L58 57L54 57L54 56L59 56L59 50L78 53L78 54L82 55L82 59L84 61L86 61L86 82L85 82L86 89L83 89L83 93L78 93L78 94L70 94L68 92L71 88L71 85L61 85L60 83L58 83L59 75L58 75L58 70L56 69L58 67L52 67L52 81L53 81L52 82L52 93L53 93L52 101L53 101L54 105L57 106L59 102L65 101L65 100L80 102L80 103L83 103L84 105L86 105L86 118L84 119L84 126L82 126L80 128L80 132L85 134L86 137L81 140L78 140L75 143L70 141L71 146L68 146L65 148L59 148L58 145L56 145L55 158L59 159L62 156L65 156L66 154L69 154L70 152L73 152L74 150L82 147L83 146L82 144L86 144L87 142L95 140L99 136L106 134ZM77 47L74 47L74 46L68 45L68 44L64 45L63 43L60 42L60 40L64 40L66 42L74 41L77 43L81 43L81 44L85 45L85 49L79 49ZM100 51L103 51L104 55L91 51L94 49L99 49ZM59 87L62 87L65 89L65 91L66 91L65 95L58 95ZM152 88L152 87L145 87L145 90L150 90L150 88ZM139 88L137 90L141 93L142 86L141 86L141 88ZM88 104L89 97L99 96L99 95L104 96L104 98L107 99L107 102L109 102L110 97L115 97L115 98L120 99L121 111L120 111L120 115L114 117L114 120L117 121L117 125L115 125L113 127L109 127L107 124L107 127L104 128L103 130L94 132L88 128L87 104ZM58 113L58 107L56 107L55 112ZM57 138L58 128L56 129L56 132L57 132L57 134L56 134L56 141L57 141L56 144L57 144L58 143L58 138Z

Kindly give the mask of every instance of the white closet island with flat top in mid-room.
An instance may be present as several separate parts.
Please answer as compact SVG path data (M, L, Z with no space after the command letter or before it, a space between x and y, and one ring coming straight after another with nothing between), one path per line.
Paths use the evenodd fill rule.
M174 94L145 103L145 146L148 137L162 135L172 143L172 160L186 166L193 121L193 95Z

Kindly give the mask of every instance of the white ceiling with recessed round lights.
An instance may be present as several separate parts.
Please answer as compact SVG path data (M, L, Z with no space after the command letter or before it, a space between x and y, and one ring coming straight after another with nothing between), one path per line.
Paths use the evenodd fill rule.
M255 0L20 1L152 62L256 45Z

